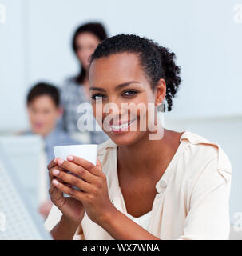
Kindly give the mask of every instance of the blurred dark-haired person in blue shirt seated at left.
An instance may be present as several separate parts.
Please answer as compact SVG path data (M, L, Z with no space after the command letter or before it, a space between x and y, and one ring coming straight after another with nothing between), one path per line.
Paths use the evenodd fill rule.
M42 136L47 162L54 158L54 146L78 144L65 131L58 129L56 126L61 109L59 106L60 95L55 86L43 82L38 83L27 94L26 104L30 131L26 131L24 134ZM51 206L52 202L48 199L39 207L39 211L44 218L49 214Z

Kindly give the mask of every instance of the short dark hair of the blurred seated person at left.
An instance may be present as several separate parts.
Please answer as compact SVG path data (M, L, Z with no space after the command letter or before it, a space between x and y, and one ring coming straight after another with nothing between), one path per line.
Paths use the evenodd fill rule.
M55 106L60 104L60 94L58 88L45 82L39 82L33 86L27 94L27 105L39 96L47 95L53 100Z

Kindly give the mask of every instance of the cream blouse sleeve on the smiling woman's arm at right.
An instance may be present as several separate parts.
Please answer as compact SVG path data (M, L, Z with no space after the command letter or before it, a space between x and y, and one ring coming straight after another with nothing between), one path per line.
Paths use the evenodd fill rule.
M226 161L218 165L214 158L196 180L180 239L228 239L231 167Z

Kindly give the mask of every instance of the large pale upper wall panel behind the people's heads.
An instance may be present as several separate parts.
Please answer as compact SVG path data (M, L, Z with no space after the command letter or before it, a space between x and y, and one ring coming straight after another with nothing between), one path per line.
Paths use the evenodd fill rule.
M177 54L183 84L176 116L242 113L242 24L233 0L29 1L28 83L62 80L77 70L70 38L77 24L97 19L109 34L153 38ZM236 93L235 93L236 92ZM215 103L215 104L214 104Z

